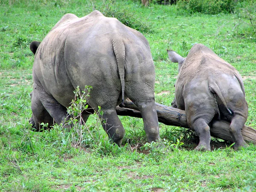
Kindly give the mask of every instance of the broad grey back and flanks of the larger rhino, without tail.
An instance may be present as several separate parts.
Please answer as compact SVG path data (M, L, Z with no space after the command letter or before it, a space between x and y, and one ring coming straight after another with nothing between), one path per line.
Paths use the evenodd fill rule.
M145 37L115 18L94 11L85 17L72 16L72 19L58 23L38 47L33 71L47 92L62 105L69 105L77 85L121 90L111 44L113 38L122 39L125 44L125 81L128 81L129 73L136 71L135 63L145 64L140 68L154 74ZM137 71L139 75L140 69Z

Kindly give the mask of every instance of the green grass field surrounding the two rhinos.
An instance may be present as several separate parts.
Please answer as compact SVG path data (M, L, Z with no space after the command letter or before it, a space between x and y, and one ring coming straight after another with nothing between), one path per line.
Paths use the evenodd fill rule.
M130 0L0 0L0 191L256 191L256 146L251 143L240 151L198 152L186 130L160 124L165 147L143 145L142 120L127 116L120 117L126 130L122 148L108 142L96 115L87 127L100 139L85 133L84 145L76 148L71 134L58 126L31 131L34 57L29 43L41 41L65 13L82 17L94 9L148 39L156 102L171 106L174 98L177 64L169 61L166 49L185 57L193 44L202 43L239 70L249 106L246 125L256 128L256 38L237 14L186 15L176 6L145 8Z

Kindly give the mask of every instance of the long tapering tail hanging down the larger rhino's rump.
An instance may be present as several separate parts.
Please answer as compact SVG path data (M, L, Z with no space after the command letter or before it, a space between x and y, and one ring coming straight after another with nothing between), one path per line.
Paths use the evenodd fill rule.
M122 103L125 99L125 44L122 39L112 39L112 46L116 56L118 73L122 88Z

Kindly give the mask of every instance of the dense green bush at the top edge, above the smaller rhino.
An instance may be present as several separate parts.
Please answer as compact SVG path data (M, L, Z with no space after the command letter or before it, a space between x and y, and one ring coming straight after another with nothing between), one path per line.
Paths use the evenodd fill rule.
M192 13L204 13L216 15L219 13L233 13L237 0L179 0L177 6L179 10Z

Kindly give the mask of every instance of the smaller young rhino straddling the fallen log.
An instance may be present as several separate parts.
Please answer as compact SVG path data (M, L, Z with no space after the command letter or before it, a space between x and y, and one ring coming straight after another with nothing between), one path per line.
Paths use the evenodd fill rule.
M167 50L178 63L173 106L185 110L189 127L199 136L196 150L210 150L209 122L213 118L231 122L230 134L238 149L246 146L241 130L248 116L244 84L238 71L211 49L195 44L186 58Z

